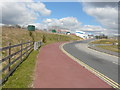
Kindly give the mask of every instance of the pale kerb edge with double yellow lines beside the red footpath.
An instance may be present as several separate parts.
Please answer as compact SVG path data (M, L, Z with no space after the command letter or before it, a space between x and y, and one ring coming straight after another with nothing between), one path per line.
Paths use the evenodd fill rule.
M98 72L97 70L93 69L92 67L88 66L84 62L80 61L79 59L75 58L74 56L72 56L71 54L69 54L67 51L65 51L64 48L63 48L63 46L66 45L66 44L69 44L69 43L71 43L71 42L63 43L63 44L61 44L59 46L60 50L63 53L65 53L67 56L69 56L70 58L72 58L75 62L77 62L81 66L85 67L87 70L89 70L90 72L92 72L93 74L95 74L96 76L98 76L99 78L101 78L103 81L105 81L106 83L108 83L113 88L120 89L120 85L118 83L116 83L112 79L108 78L107 76L103 75L102 73Z

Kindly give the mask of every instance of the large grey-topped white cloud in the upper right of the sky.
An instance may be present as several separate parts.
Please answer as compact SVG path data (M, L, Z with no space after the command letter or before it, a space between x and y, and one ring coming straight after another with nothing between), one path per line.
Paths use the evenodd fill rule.
M118 7L116 2L84 2L83 10L88 15L95 17L96 21L108 30L107 33L118 30Z

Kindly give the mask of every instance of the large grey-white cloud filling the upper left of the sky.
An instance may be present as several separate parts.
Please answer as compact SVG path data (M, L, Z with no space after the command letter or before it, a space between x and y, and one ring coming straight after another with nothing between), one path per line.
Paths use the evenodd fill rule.
M41 16L51 14L51 10L41 2L2 2L0 7L2 8L3 24L27 24Z

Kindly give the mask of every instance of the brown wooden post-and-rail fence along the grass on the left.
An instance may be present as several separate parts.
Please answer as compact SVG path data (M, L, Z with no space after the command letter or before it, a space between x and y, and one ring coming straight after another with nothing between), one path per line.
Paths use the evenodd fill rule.
M34 43L39 43L36 44L38 49L42 42L28 41L25 43L21 42L17 45L11 45L11 43L8 43L7 47L0 48L0 53L2 53L2 59L0 60L1 85L33 51L33 49L36 47Z

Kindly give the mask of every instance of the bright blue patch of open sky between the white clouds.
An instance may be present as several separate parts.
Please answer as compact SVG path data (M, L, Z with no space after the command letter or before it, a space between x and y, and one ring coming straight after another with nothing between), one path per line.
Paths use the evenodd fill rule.
M87 15L83 11L82 3L80 2L44 2L46 8L50 9L51 15L46 18L64 18L75 17L83 25L100 25L95 18Z

